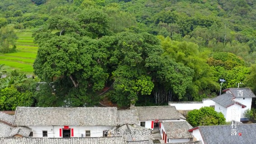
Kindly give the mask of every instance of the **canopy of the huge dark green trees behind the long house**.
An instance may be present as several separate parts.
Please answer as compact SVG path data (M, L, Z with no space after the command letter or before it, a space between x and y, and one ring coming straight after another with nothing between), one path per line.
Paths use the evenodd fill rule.
M194 70L162 55L160 41L149 33L107 36L111 34L106 29L108 23L105 14L95 11L79 14L77 20L57 15L44 28L58 29L59 33L44 28L34 33L39 45L35 74L56 83L53 103L63 98L70 106L93 105L98 99L93 93L108 79L115 81L119 105L134 105L138 97L150 95L153 89L173 91L173 97L183 98ZM156 102L165 99L159 94L154 97Z

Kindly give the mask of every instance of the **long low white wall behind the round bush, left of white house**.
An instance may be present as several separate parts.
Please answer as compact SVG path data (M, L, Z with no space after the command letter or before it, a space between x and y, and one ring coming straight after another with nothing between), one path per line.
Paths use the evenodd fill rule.
M211 99L205 99L202 102L193 103L193 102L177 102L169 103L170 106L175 106L177 110L194 110L200 109L201 107L209 107L215 105L215 102Z

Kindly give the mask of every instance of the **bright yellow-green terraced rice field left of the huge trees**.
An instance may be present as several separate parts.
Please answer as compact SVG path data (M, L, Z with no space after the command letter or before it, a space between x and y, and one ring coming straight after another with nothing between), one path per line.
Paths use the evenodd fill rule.
M33 74L33 62L37 56L37 44L33 42L32 32L16 32L18 52L0 54L0 64L27 74Z

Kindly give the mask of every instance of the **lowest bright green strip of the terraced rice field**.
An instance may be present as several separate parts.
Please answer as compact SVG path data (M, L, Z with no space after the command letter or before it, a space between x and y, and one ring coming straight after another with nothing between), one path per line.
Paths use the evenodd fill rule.
M33 66L29 64L23 64L16 61L0 60L0 64L5 64L12 68L17 68L24 72L33 72Z

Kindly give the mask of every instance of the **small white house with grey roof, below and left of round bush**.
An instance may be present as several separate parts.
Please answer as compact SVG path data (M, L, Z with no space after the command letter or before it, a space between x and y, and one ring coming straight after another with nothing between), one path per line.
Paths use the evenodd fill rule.
M188 132L193 127L187 121L163 121L161 125L161 137L164 143L185 143L193 141L193 135Z

